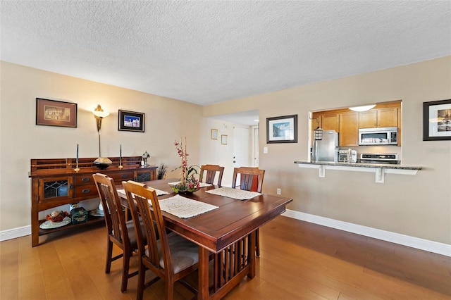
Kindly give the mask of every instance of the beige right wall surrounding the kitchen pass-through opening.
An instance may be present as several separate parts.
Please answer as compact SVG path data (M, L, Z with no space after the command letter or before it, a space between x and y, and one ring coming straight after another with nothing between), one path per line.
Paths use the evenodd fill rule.
M308 159L309 111L402 99L402 164L417 175L298 168ZM204 107L204 117L259 109L264 192L293 198L288 208L451 244L451 142L422 140L424 101L451 99L451 57L404 65ZM298 115L297 144L266 144L266 118ZM268 154L263 154L263 147ZM384 147L383 151L390 151Z

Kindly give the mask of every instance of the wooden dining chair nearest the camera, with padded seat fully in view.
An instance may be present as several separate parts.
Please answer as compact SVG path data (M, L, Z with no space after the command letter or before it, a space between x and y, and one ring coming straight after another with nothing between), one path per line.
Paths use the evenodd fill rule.
M139 268L137 299L141 300L144 289L160 278L165 281L166 299L173 299L174 283L180 281L185 287L197 294L197 289L183 281L183 277L196 270L199 264L199 246L174 232L167 233L156 192L140 182L129 180L122 182L127 195L128 206L135 226L139 222L138 214L144 223L144 234L136 230ZM149 204L152 205L152 211ZM156 223L156 228L153 225ZM135 227L137 228L137 227ZM157 239L157 234L159 239ZM147 239L148 246L144 244ZM146 270L157 275L144 285Z

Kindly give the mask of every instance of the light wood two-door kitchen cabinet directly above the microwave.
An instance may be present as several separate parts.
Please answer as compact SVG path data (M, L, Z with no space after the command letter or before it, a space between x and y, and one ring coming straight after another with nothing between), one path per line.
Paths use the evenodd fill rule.
M359 113L359 128L397 127L397 108L376 108Z

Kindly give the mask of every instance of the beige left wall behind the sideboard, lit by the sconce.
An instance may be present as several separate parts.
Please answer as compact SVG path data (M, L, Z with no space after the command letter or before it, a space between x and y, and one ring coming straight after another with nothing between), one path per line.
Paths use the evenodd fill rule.
M30 225L30 158L75 157L77 144L81 157L99 155L97 104L111 113L102 122L102 156L119 156L122 144L123 156L147 151L151 164L173 170L180 163L173 141L186 136L198 163L201 106L6 62L0 68L0 231ZM35 125L37 97L77 103L78 127ZM145 132L118 131L118 109L145 113Z

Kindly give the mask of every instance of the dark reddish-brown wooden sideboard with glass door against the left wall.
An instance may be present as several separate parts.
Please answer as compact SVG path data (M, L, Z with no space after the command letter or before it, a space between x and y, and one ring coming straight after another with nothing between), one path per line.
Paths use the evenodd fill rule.
M138 182L156 180L154 165L141 166L141 156L123 156L111 158L113 162L105 170L93 165L96 158L79 158L78 172L75 172L75 158L45 158L31 159L31 235L32 246L39 245L39 236L48 235L61 230L75 230L94 223L104 223L104 218L88 216L87 223L68 224L54 229L41 229L39 225L45 220L39 220L39 211L45 211L64 204L73 204L81 200L99 198L92 174L103 173L113 178L119 185L123 180Z

